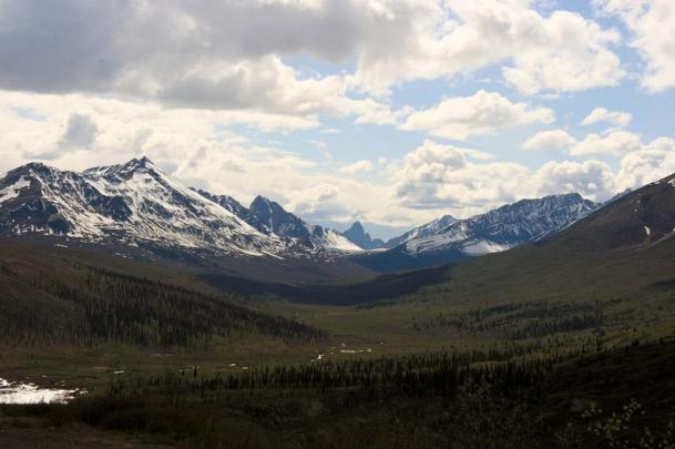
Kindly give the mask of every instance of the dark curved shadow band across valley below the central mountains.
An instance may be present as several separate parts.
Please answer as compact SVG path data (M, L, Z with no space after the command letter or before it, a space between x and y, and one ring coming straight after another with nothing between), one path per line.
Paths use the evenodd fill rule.
M401 274L388 274L356 284L289 285L263 283L223 274L201 274L198 277L221 289L252 296L272 296L294 303L355 306L376 300L410 295L420 288L444 283L452 265Z

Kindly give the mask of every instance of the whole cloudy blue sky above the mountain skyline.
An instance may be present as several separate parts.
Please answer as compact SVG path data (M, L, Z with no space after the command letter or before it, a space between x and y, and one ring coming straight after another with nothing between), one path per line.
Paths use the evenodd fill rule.
M391 237L675 172L673 0L0 0L0 172L146 155Z

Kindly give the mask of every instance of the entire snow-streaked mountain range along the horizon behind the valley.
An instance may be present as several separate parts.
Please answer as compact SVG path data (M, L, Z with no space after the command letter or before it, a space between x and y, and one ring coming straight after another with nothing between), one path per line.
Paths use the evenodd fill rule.
M247 207L186 187L146 157L84 172L31 163L0 178L0 235L141 248L200 263L214 256L351 263L393 272L536 242L600 205L579 194L523 200L467 220L442 216L389 242L360 222L339 233L308 224L264 196ZM356 268L355 268L356 269Z

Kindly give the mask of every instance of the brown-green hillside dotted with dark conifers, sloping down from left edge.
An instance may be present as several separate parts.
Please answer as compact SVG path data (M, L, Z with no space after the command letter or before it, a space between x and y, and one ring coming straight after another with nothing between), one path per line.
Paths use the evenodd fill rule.
M81 262L86 261L86 262ZM165 279L172 278L173 282ZM3 241L0 340L28 346L202 348L221 337L316 339L321 333L156 267Z

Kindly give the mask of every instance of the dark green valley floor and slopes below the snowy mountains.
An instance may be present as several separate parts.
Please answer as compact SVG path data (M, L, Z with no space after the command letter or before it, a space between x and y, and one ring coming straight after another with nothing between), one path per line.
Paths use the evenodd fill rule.
M478 426L481 441L576 447L575 438L606 438L579 424L586 408L602 408L593 419L603 426L611 411L638 407L654 438L668 441L673 396L628 378L644 369L651 388L673 388L658 374L672 366L675 335L671 181L512 249L399 273L321 278L356 256L319 252L303 262L315 268L285 277L287 259L274 275L263 268L274 257L238 256L250 267L241 277L237 257L223 269L217 258L156 248L115 243L111 254L70 235L6 235L0 377L88 392L42 408L0 405L0 428L13 420L34 438L76 426L154 445L244 448L471 447ZM618 387L608 395L597 378ZM421 427L401 424L410 414ZM645 438L642 422L622 438Z

